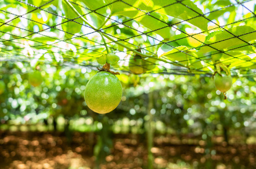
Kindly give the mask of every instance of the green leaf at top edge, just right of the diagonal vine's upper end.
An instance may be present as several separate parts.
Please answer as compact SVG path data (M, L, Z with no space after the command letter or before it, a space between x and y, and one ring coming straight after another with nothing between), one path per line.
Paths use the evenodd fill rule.
M93 24L97 27L99 27L107 18L107 7L104 0L80 0L80 2L84 3L84 5L89 9L89 16L91 17ZM105 7L103 7L105 6ZM98 10L97 10L98 9ZM95 12L92 12L96 10L97 14ZM99 15L101 14L101 15ZM103 16L102 16L103 15ZM106 17L105 17L106 16Z

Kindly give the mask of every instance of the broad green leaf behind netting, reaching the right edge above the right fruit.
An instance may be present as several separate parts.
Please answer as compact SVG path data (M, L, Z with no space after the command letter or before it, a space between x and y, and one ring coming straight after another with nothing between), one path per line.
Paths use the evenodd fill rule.
M230 33L229 33L230 32ZM232 34L233 35L232 35ZM240 39L234 37L239 36ZM235 48L239 45L246 45L245 42L251 42L256 39L256 32L250 26L236 26L234 28L228 29L228 31L223 30L222 32L215 32L206 38L206 44L212 45L203 46L200 49L200 52L210 52L214 51L214 48L218 50L224 50L227 48ZM244 42L245 41L245 42ZM212 48L214 47L214 48Z

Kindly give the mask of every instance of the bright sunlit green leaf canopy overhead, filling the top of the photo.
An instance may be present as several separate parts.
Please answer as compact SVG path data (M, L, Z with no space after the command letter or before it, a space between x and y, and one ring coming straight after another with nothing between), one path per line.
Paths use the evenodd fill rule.
M253 73L254 6L210 0L2 1L1 60L96 69L109 46L120 57L114 69L123 73L132 73L128 64L136 54L148 59L133 63L146 73L212 74L218 63L232 74Z

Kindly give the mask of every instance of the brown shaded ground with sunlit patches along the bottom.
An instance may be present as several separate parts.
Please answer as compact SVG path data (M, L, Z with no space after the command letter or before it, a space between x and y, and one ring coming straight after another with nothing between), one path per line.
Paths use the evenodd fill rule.
M256 145L207 145L198 139L155 137L154 168L256 168ZM147 168L146 139L114 135L112 154L101 168ZM0 168L94 168L96 136L75 132L0 132ZM209 148L207 148L209 146Z

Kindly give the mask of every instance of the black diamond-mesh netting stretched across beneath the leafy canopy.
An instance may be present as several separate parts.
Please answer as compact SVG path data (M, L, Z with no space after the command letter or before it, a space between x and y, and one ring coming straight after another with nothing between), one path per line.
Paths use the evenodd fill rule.
M96 10L90 10L90 8L82 6L79 3L72 2L70 3L74 7L79 7L82 8L84 11L88 11L87 13L82 13L81 15L83 17L86 17L90 14L95 14L99 15L102 17L105 17L106 19L109 19L111 21L110 26L105 26L101 29L94 29L90 27L88 24L81 24L78 19L80 19L81 16L77 16L75 19L69 19L67 17L64 17L65 15L61 14L60 12L55 12L49 10L49 6L51 3L57 0L52 0L49 2L44 3L41 6L36 6L34 4L30 4L27 1L15 1L15 5L19 6L30 6L33 8L33 10L29 11L27 10L24 12L23 15L18 15L16 12L12 12L10 10L6 9L0 9L1 14L8 16L8 18L5 18L3 20L0 20L0 33L2 33L2 37L0 37L0 44L1 44L1 60L0 61L22 61L22 62L30 62L32 59L37 58L38 55L46 55L47 57L40 57L40 61L42 63L52 63L52 60L54 60L54 57L56 55L61 55L62 56L62 61L57 61L58 64L63 65L63 66L71 66L71 65L80 65L80 66L89 66L90 68L96 69L96 67L99 67L99 64L97 61L93 58L101 56L106 54L105 52L105 45L109 46L110 50L113 53L118 53L120 55L127 55L125 57L122 57L120 60L120 66L115 67L113 69L118 70L119 72L128 72L131 73L129 68L128 68L128 63L131 57L129 56L135 56L136 53L135 51L141 51L143 54L149 55L147 56L148 58L151 57L151 60L146 60L145 64L143 65L137 65L134 64L134 66L142 66L144 67L145 70L147 70L146 73L160 73L160 74L212 74L211 69L214 69L214 66L218 63L223 63L223 64L231 64L232 61L235 63L232 65L231 70L232 73L237 73L237 70L239 73L248 73L248 70L250 70L250 75L254 75L254 69L256 69L256 63L254 57L251 57L249 59L250 55L255 54L255 51L243 51L240 55L233 55L232 52L237 51L238 49L241 48L246 48L246 47L255 47L255 41L253 43L249 43L248 41L245 41L243 36L245 35L250 35L255 33L253 32L247 32L244 34L240 35L235 35L232 32L228 30L229 27L232 27L233 24L244 24L244 23L251 23L255 24L255 9L254 11L251 11L248 7L246 7L245 3L247 2L253 2L252 1L243 1L243 2L238 2L233 3L231 5L227 5L225 7L219 7L217 9L214 9L209 12L205 12L205 14L200 14L193 8L185 5L184 1L176 1L174 3L170 3L166 6L162 6L157 8L156 10L153 11L144 11L141 10L140 8L134 7L132 4L128 3L129 1L112 1L109 4L105 4L100 8L97 8ZM7 1L8 2L8 1ZM2 6L5 2L2 2ZM64 1L62 3L65 3ZM127 7L132 8L133 10L138 10L142 13L142 15L134 16L133 18L126 18L124 21L116 20L115 17L110 17L110 16L105 16L102 15L99 10L101 8L106 7L106 6L111 6L115 3L124 3ZM163 20L158 19L155 17L153 14L155 11L163 10L164 8L171 7L174 5L182 5L189 10L193 11L195 14L197 14L194 17L191 17L187 20L177 20L175 23L173 22L166 22ZM227 8L242 8L242 10L248 11L251 15L246 16L245 18L242 17L242 19L237 19L233 21L232 23L225 23L225 24L219 24L216 20L210 20L208 16L211 14L214 14L214 12L220 12L223 10L226 10ZM49 16L54 16L55 20L62 20L58 24L53 25L47 25L43 23L40 19L34 20L32 19L33 17L29 17L28 14L31 14L32 12L34 15L39 14L41 11L44 11L47 15ZM215 13L216 14L216 13ZM161 28L155 29L155 30L148 30L147 32L143 32L139 29L136 29L132 26L133 22L137 22L137 19L140 19L141 17L144 16L150 16L154 18L155 20L158 20L159 23L163 23L164 26ZM198 33L187 33L184 29L180 29L179 24L186 24L187 21L191 21L193 19L196 19L197 17L203 17L206 19L211 26L211 28L208 30L208 32L212 31L218 31L218 30L223 30L224 32L229 33L232 35L229 38L222 39L221 41L214 42L214 43L205 43L204 41L201 41L200 39L197 38L197 35L202 35L207 33L205 31L201 31ZM39 24L42 25L42 30L34 31L34 29L31 28L26 28L25 26L21 26L20 22L22 20L27 20L31 22L33 25L34 24ZM76 23L77 25L82 25L84 26L84 29L87 30L86 33L80 32L80 33L71 33L68 31L64 31L61 28L62 24L67 24L68 22L73 22ZM131 36L127 36L125 38L121 38L120 36L116 36L115 34L111 33L111 29L115 29L116 26L123 26L126 28L126 30L131 30L133 32L136 32L136 34L133 34ZM8 31L8 28L12 28L12 31ZM172 29L173 31L179 31L180 34L182 35L180 38L173 39L173 40L168 40L166 39L159 39L159 37L156 35L159 30L162 29ZM72 37L71 38L66 38L64 36L63 39L59 39L57 37L51 36L50 32L54 30L55 33L57 34L70 34ZM171 31L172 31L171 30ZM23 32L23 34L26 35L19 35L16 32ZM114 41L107 41L104 43L102 39L92 39L89 38L93 34L98 34L98 32L101 32L102 34L105 34L109 36L110 38L113 38ZM34 35L37 35L37 37L44 37L44 38L49 38L50 41L40 41L40 39L35 39L32 38ZM99 36L100 37L100 36ZM151 45L147 46L138 46L134 44L133 42L136 41L136 38L138 37L146 37L147 39L150 39L154 43ZM183 41L184 39L193 39L195 42L201 43L200 46L198 47L189 47L189 48L183 48L180 49L177 46L172 45L175 42ZM214 47L217 43L220 42L228 42L229 40L232 39L238 39L239 41L242 41L243 45L238 45L233 48L228 48L227 50L219 50L218 48ZM125 43L128 46L130 46L131 49L127 50L122 50L120 49L115 43ZM250 41L251 42L251 41ZM67 48L66 46L73 46L72 50L70 48ZM175 49L176 51L173 52L172 54L169 55L169 57L162 56L158 57L157 54L157 49L160 45L166 45L170 48ZM210 47L212 48L211 52L205 52L203 55L193 55L194 50L200 50L202 47ZM24 55L24 51L27 50L27 55ZM42 51L43 50L43 51ZM186 59L184 60L172 60L170 59L172 55L177 55L177 54L185 54ZM93 54L93 55L92 55ZM212 62L211 57L214 55L222 55L223 59L219 62ZM90 59L91 58L91 59ZM184 66L188 65L188 63L200 63L200 66L195 66L195 67L189 67L189 66ZM157 66L158 69L149 69L150 65L155 65ZM130 65L131 66L131 65ZM209 68L206 70L206 68Z

